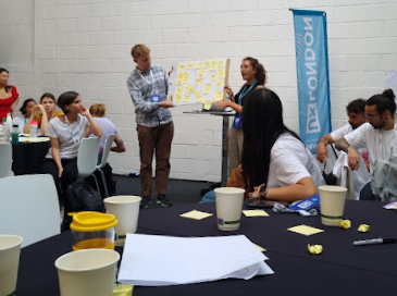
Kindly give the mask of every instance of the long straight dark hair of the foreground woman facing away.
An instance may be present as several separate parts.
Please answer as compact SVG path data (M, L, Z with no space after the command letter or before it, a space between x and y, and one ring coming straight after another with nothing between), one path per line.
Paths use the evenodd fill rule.
M247 95L243 109L243 177L246 190L268 183L271 150L283 133L299 136L284 125L283 104L270 89L255 89ZM302 144L302 149L305 146Z

